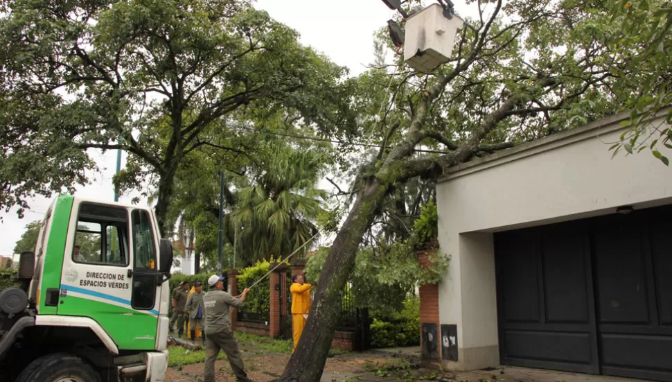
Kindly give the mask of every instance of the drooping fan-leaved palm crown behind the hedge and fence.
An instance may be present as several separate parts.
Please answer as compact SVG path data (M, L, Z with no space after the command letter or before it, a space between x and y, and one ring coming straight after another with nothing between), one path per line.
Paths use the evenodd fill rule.
M247 263L294 252L317 234L317 216L324 212L327 192L317 189L321 155L283 147L269 158L256 175L242 180L236 207L227 215L229 237L236 235L236 250Z

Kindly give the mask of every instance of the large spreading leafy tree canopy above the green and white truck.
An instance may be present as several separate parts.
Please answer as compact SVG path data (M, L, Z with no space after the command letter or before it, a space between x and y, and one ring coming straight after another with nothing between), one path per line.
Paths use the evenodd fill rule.
M148 182L163 232L179 164L240 152L247 108L342 125L344 69L247 0L3 3L0 205L87 182L85 150L129 153L121 191ZM227 137L227 139L222 139ZM231 146L228 144L231 143Z

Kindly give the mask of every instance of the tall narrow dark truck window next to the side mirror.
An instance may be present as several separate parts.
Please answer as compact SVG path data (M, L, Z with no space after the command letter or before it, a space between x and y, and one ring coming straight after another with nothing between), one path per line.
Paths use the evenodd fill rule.
M133 225L133 309L153 309L157 293L157 248L154 225L147 211L136 209L131 213Z

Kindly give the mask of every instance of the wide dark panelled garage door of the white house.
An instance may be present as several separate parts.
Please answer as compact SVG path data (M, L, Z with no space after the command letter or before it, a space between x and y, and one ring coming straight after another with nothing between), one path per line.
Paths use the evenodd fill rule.
M502 363L672 381L672 207L495 234Z

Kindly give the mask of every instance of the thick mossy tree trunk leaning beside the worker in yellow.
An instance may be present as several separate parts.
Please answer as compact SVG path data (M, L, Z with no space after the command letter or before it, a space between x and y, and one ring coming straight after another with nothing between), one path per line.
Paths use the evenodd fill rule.
M318 382L331 347L341 310L341 293L355 266L362 236L373 222L389 186L374 179L357 200L338 232L317 284L306 328L279 381Z

